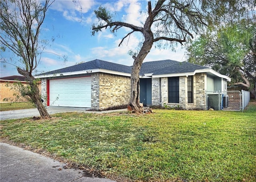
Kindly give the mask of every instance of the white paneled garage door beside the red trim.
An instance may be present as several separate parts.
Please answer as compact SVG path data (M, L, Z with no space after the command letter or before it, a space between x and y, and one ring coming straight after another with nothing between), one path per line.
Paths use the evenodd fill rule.
M91 77L50 80L50 106L91 107Z

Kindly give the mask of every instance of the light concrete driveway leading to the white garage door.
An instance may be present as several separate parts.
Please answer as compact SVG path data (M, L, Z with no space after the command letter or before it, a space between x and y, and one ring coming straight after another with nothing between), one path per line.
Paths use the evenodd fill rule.
M119 112L119 111L127 110L127 109L121 109L121 110L110 110L110 111L88 111L89 109L90 108L70 108L70 107L50 106L47 108L47 111L51 115L51 114L64 113L64 112L108 113L108 112ZM33 116L40 116L37 108L0 112L0 120L20 119L20 118L33 117Z

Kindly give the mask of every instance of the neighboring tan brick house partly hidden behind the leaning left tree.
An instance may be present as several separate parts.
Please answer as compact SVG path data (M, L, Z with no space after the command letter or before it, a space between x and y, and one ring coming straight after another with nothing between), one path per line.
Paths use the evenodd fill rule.
M22 84L28 84L25 81L25 76L13 75L0 78L0 102L24 102L26 99L16 99L14 96L14 90L11 89L15 82L21 82ZM8 85L8 86L7 86ZM38 82L38 88L41 90L41 83Z

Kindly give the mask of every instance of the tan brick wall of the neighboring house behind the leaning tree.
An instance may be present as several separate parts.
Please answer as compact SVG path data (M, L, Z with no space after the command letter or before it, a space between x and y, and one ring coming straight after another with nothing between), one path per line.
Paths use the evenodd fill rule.
M11 88L14 86L13 82L8 82L8 86L6 86L7 82L0 82L0 102L5 103L5 102L26 102L27 100L25 98L20 98L19 100L16 99L16 96L14 96L15 92ZM24 83L24 85L26 85ZM38 88L39 92L41 91L41 83L38 83ZM19 94L20 95L20 94ZM6 98L6 101L4 99Z

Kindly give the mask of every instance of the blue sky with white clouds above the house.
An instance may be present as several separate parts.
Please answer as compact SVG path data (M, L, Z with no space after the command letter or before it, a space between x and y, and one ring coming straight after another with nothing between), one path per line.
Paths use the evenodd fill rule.
M129 39L126 38L120 47L118 47L118 44L122 37L130 32L130 29L119 29L116 35L106 29L92 36L92 24L98 22L94 10L102 4L115 13L115 20L142 26L140 22L144 22L146 18L146 14L143 12L146 12L147 1L80 0L79 3L82 6L82 14L79 11L79 4L74 4L72 0L56 0L50 6L42 26L41 38L48 40L54 38L54 41L50 42L44 50L47 53L42 54L40 65L34 74L94 59L128 66L133 64L134 60L128 55L128 51L137 47L141 40L141 34L137 33L131 35ZM153 4L154 2L152 2ZM186 61L184 52L185 49L181 49L180 46L176 48L176 52L170 49L159 50L153 47L144 62L164 59ZM67 61L56 56L56 54L66 56ZM14 57L14 55L6 51L1 52L1 57ZM0 76L11 75L19 75L16 67L1 63Z

